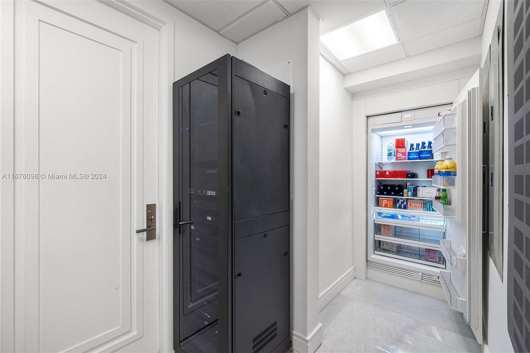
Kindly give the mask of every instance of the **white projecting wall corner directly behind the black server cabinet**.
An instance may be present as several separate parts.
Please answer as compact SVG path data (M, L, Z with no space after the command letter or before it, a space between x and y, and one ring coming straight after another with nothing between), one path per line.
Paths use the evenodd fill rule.
M237 57L291 86L291 330L315 351L319 323L319 20L310 8L237 46ZM290 68L290 69L289 69ZM296 298L296 300L294 300Z

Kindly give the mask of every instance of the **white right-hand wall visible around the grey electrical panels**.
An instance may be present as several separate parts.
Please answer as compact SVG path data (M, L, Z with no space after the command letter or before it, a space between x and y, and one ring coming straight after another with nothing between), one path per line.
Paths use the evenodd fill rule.
M481 66L483 66L486 55L488 54L488 47L495 30L495 23L497 20L497 14L502 6L503 2L500 0L490 0L488 4L488 12L484 21L484 30L482 33L482 60ZM506 12L506 6L505 6ZM506 16L506 13L505 13ZM506 17L505 17L506 23ZM504 30L505 42L507 39L507 30ZM506 57L506 46L505 46L505 57ZM506 63L505 63L506 64ZM505 102L507 102L507 66L504 68L504 84L505 84ZM508 146L508 107L507 104L504 106L504 146ZM508 173L508 148L504 149L504 173ZM504 179L504 189L508 190L508 178ZM484 269L483 276L488 278L488 287L484 290L488 291L488 302L484 303L487 310L485 315L486 322L486 336L487 336L487 350L490 352L513 352L514 348L511 345L510 337L508 336L508 321L507 321L507 310L508 310L508 284L507 284L507 267L508 267L508 193L505 193L504 199L504 230L503 230L503 264L502 264L502 277L504 282L501 280L499 273L493 261L488 258L488 268Z

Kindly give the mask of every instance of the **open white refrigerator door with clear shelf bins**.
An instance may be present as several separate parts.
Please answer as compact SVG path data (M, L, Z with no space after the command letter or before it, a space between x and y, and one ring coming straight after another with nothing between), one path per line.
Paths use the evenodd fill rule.
M440 242L446 260L440 283L449 306L464 314L482 343L482 214L476 211L482 205L482 183L477 182L482 180L478 87L455 103L457 143L447 156L457 162L456 187L449 190L456 218L447 219L446 240Z

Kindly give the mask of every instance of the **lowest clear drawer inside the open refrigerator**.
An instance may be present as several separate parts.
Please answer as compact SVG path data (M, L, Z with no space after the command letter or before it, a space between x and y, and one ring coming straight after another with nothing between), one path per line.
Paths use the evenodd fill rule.
M439 249L401 243L395 240L375 239L375 253L429 266L445 268L444 255Z

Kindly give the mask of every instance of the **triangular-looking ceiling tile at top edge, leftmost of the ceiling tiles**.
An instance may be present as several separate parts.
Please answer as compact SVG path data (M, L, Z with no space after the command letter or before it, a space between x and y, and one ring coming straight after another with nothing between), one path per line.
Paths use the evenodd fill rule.
M259 5L262 0L167 0L199 22L218 30Z

